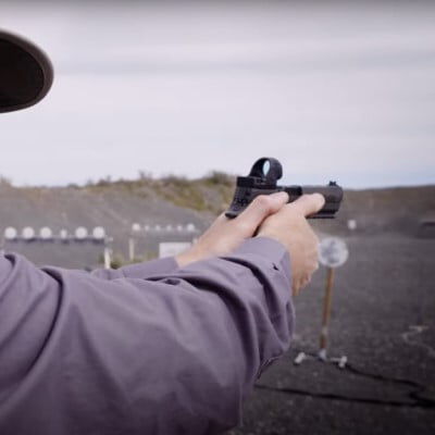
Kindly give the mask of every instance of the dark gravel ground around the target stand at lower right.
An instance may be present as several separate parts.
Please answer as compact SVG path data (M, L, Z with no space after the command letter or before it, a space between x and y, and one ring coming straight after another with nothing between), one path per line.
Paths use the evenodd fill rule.
M422 384L421 397L435 400L435 240L384 235L346 241L350 256L336 271L330 356ZM243 427L229 434L434 434L435 408L415 403L414 387L318 360L293 363L298 351L318 349L325 276L321 269L295 301L291 349L259 380Z

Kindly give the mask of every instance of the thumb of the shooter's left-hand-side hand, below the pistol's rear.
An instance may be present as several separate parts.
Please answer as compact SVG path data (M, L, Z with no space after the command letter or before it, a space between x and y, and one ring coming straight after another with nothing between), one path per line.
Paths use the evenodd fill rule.
M288 194L285 191L260 195L236 217L236 221L243 222L253 232L265 217L279 211L281 208L288 202Z

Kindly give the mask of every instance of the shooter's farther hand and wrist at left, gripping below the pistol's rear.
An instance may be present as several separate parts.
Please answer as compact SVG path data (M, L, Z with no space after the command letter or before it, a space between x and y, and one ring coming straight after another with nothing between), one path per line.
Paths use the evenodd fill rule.
M236 219L222 213L189 250L176 257L178 265L232 252L245 239L252 237L264 219L281 210L287 201L288 195L283 191L261 195Z

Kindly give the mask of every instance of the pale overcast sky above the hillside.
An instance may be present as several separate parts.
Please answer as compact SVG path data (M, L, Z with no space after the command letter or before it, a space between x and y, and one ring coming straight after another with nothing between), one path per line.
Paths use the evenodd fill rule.
M246 174L271 156L287 183L435 183L435 2L349 3L1 0L55 79L0 116L0 174Z

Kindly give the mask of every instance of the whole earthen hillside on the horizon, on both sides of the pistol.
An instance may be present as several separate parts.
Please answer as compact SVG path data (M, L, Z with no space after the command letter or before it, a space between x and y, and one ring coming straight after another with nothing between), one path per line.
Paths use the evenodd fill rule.
M135 181L105 179L86 186L52 188L14 187L2 182L0 232L3 234L9 226L18 232L25 226L36 232L49 226L54 234L62 228L73 234L77 226L89 231L103 226L113 237L115 253L125 259L133 223L162 227L190 223L197 228L190 235L138 234L137 252L149 258L157 254L159 241L189 241L202 232L231 202L234 183L234 177L222 173L192 181L142 175ZM435 186L347 190L337 219L313 221L313 225L323 234L347 236L350 235L347 222L352 219L357 222L355 235L415 236L421 220L427 216L435 219ZM39 263L67 263L77 268L96 264L101 257L99 247L25 245L9 243L4 248L21 251Z

